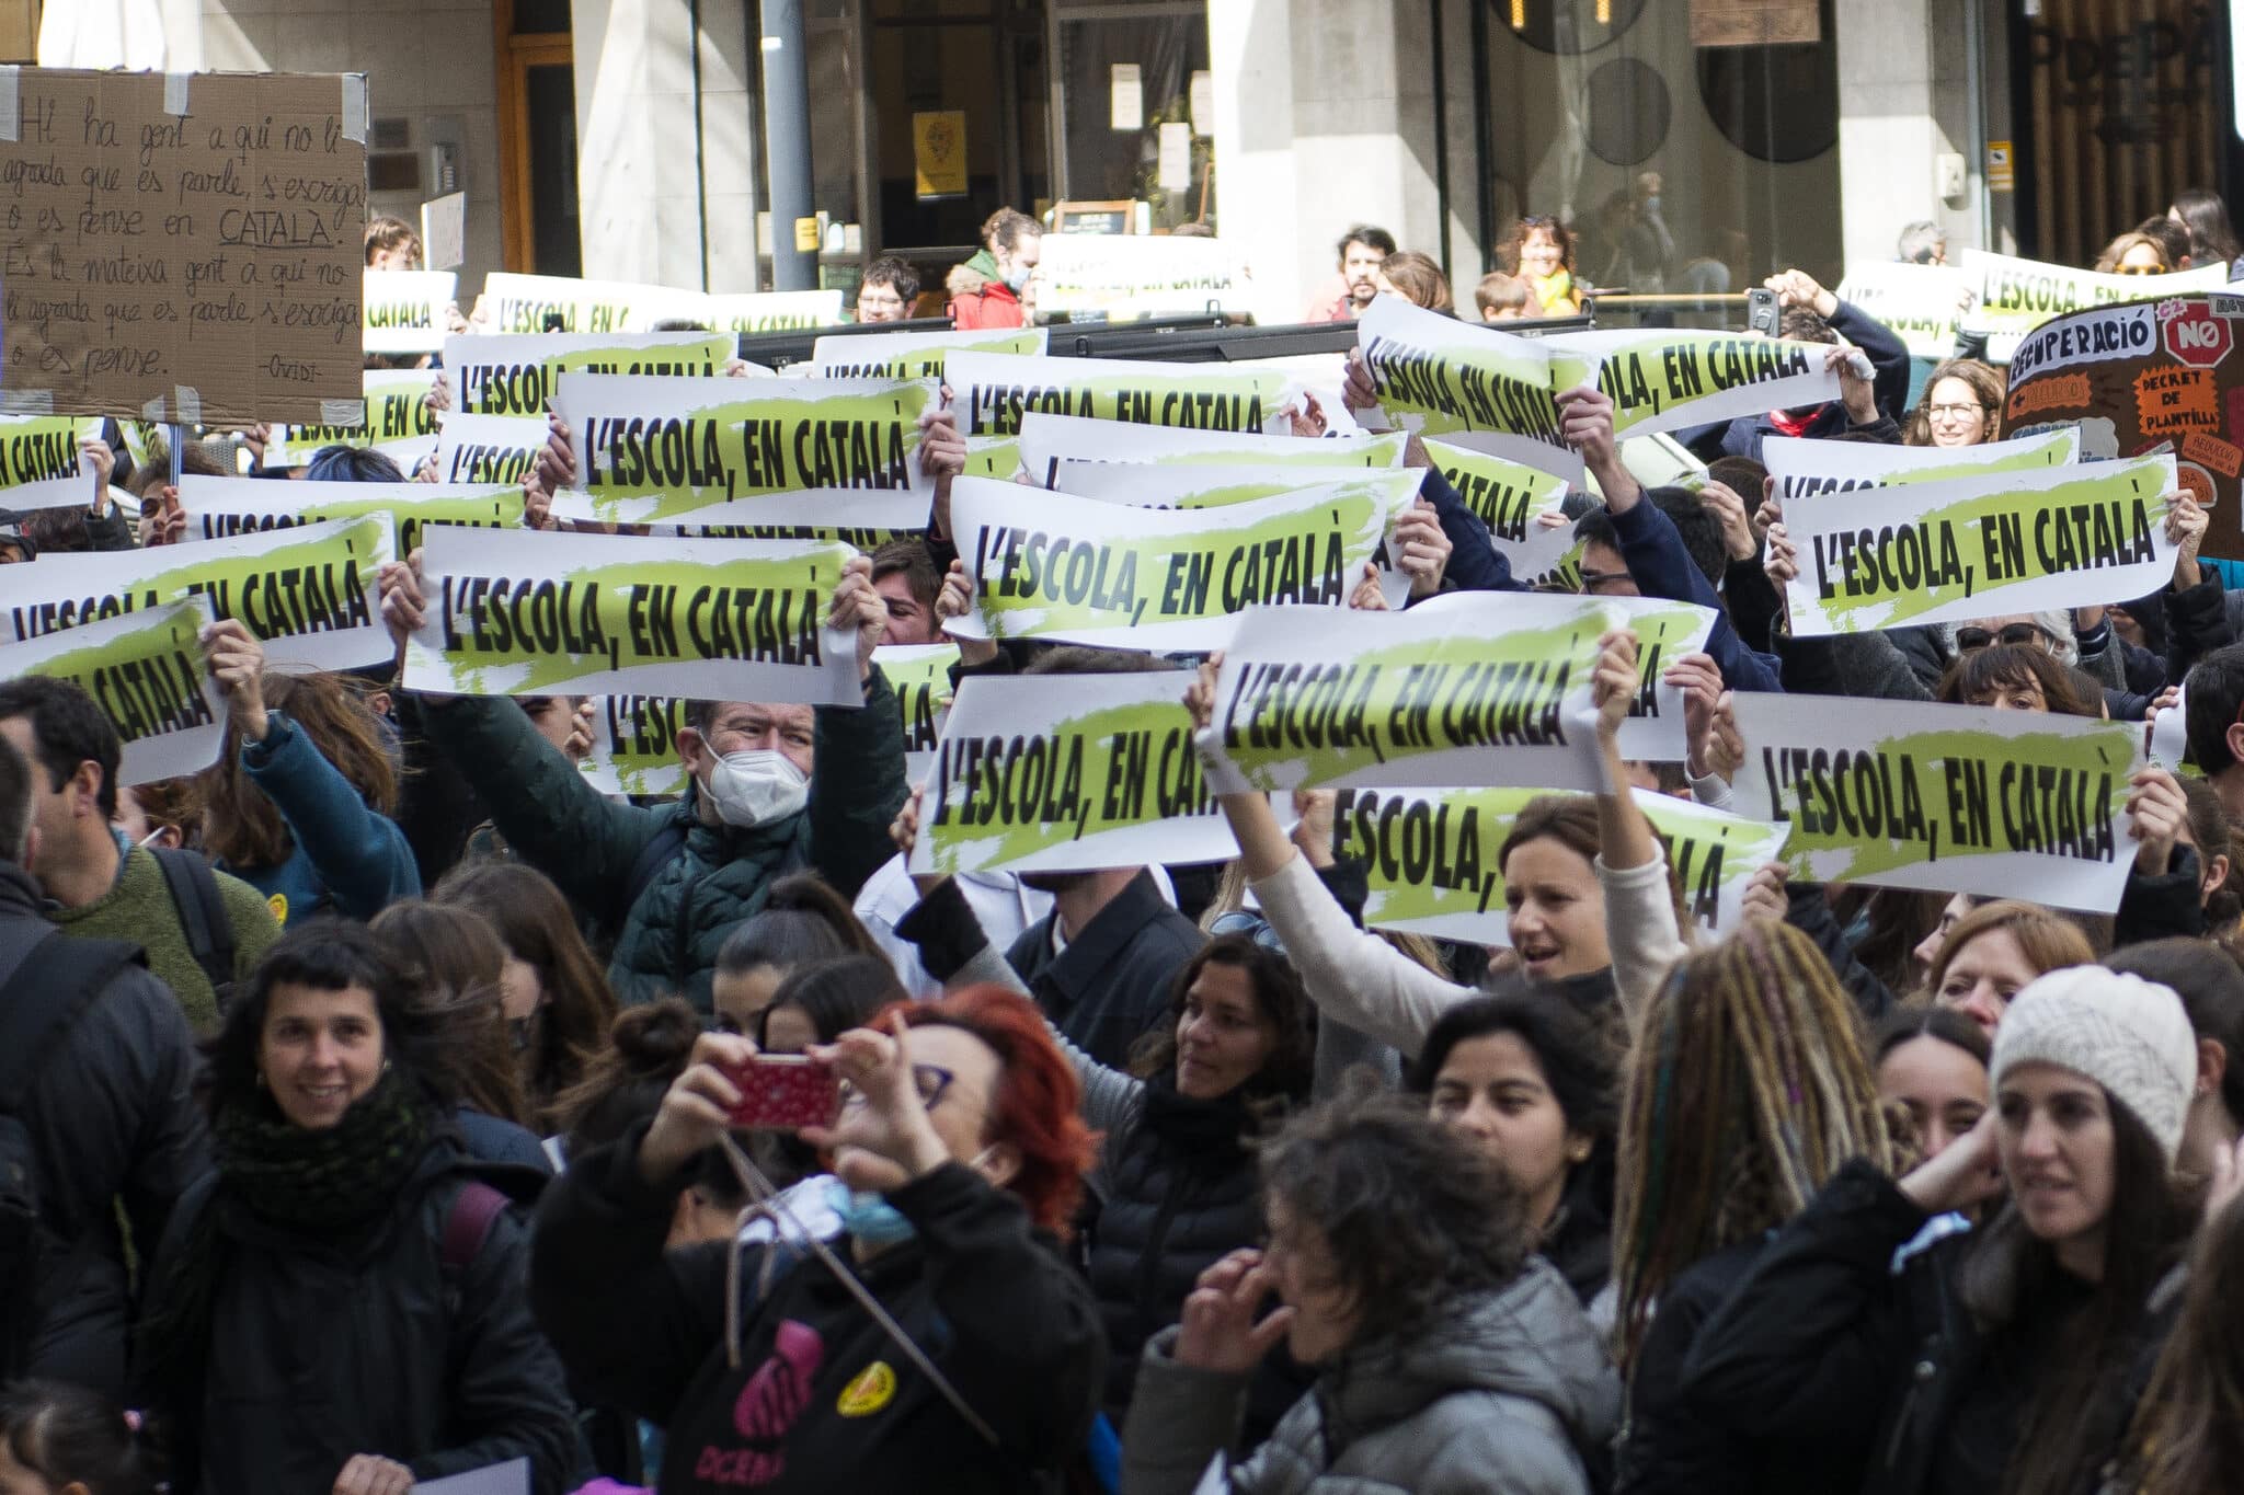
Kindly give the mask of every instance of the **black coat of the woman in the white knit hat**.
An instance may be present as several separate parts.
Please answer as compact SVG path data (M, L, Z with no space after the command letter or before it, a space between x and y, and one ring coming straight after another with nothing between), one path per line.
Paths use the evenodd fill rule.
M1939 1239L1894 1271L1894 1253L1925 1224L1892 1179L1865 1161L1847 1163L1694 1336L1683 1365L1690 1414L1739 1437L1822 1443L1865 1470L1851 1486L1865 1495L1972 1484L1959 1475L1966 1446L1977 1461L1999 1464L2015 1426L1995 1423L2031 1401L2044 1356L1990 1354L1957 1289L1970 1235ZM2145 1309L2127 1383L2134 1394L2170 1311ZM2114 1450L2127 1412L2082 1410L2100 1419ZM1934 1484L1937 1475L1946 1484ZM2082 1468L2082 1488L2094 1477L2096 1468Z

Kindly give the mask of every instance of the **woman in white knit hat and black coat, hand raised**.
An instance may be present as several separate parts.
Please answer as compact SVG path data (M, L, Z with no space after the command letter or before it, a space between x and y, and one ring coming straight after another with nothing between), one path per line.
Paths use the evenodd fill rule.
M1898 1183L1858 1159L1818 1192L1699 1334L1690 1408L1840 1450L1871 1495L2094 1488L2172 1322L2195 1071L2165 986L2040 977L1995 1036L1995 1109ZM2002 1188L1993 1224L1894 1271L1930 1217Z

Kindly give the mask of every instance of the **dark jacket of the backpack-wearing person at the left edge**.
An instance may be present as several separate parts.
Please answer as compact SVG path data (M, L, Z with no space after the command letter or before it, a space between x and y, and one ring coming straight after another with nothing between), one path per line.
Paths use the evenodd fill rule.
M54 932L38 888L0 861L0 984ZM132 1253L148 1257L180 1195L209 1170L211 1141L193 1103L195 1036L146 966L121 968L56 1040L9 1109L31 1139L40 1224L49 1242L29 1374L123 1399L132 1343ZM7 1291L7 1289L0 1289Z

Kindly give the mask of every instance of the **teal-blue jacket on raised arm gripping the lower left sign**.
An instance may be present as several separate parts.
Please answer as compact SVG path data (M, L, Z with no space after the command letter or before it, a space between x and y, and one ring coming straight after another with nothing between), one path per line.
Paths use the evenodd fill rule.
M278 897L274 917L283 926L328 908L373 919L397 899L417 899L420 867L397 823L368 809L287 713L272 711L267 722L265 742L242 749L242 769L287 820L296 849L278 867L227 872Z

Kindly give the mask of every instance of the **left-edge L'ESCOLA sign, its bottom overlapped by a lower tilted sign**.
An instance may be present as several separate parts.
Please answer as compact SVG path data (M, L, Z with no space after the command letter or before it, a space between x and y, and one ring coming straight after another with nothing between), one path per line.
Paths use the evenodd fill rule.
M375 574L393 556L390 524L375 516L231 540L40 556L9 567L0 643L202 596L213 616L240 619L263 639L269 663L352 670L393 652L375 594Z

